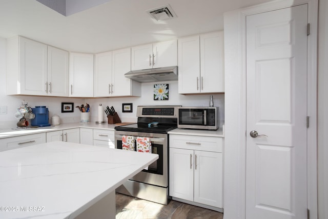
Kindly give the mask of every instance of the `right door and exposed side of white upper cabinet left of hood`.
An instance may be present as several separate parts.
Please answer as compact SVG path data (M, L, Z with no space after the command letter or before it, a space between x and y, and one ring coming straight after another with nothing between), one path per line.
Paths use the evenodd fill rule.
M141 85L124 76L131 70L131 48L112 52L111 96L141 96Z

